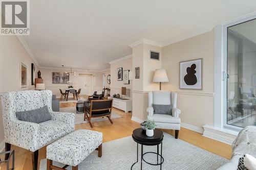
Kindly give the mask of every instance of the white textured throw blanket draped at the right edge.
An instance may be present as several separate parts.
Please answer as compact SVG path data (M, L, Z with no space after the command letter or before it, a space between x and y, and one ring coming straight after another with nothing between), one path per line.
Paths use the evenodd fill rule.
M249 154L256 157L256 126L247 126L242 129L232 143L234 155Z

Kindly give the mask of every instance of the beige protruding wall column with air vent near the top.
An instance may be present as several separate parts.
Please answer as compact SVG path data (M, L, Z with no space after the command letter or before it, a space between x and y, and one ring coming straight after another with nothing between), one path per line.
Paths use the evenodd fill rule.
M159 52L160 60L150 59L150 51ZM133 70L140 67L140 79L133 81L133 119L144 120L147 117L147 92L158 90L159 84L153 83L155 70L162 65L162 48L149 44L133 47Z

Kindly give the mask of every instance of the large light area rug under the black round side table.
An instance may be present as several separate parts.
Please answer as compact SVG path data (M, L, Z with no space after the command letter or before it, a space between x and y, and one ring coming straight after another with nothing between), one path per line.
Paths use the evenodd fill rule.
M135 164L133 170L140 169L140 149L139 145L139 162ZM157 152L156 146L143 146L143 153ZM181 139L175 139L172 135L164 133L163 138L163 170L215 170L227 163L228 160L210 153L206 150L196 147L193 144L185 142ZM155 154L146 154L144 159L151 163L157 163ZM160 158L159 158L160 159ZM112 140L102 144L102 157L98 158L98 152L94 151L79 165L79 170L119 170L131 169L131 166L137 160L137 143L132 136ZM58 162L53 162L57 166L63 166ZM46 159L42 159L40 170L46 170ZM67 169L71 169L69 166ZM159 166L152 166L142 163L142 169L159 170Z

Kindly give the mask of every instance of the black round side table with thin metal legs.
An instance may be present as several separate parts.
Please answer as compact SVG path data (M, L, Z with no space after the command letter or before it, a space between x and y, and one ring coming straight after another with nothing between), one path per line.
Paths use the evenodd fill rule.
M137 162L135 162L131 169L133 169L133 166L138 163L138 156L139 156L139 144L141 144L141 164L140 164L140 169L142 169L142 160L146 162L147 164L150 165L160 165L160 169L162 169L162 164L163 164L163 157L162 157L162 148L163 148L163 132L161 130L155 129L154 130L154 136L148 137L146 136L146 133L141 129L135 129L133 131L133 140L137 142ZM159 154L159 144L161 144L161 154ZM155 152L146 152L143 153L143 145L157 145L157 153ZM156 154L157 155L157 163L148 163L147 161L144 160L143 156L146 154ZM160 162L158 161L158 158L160 156Z

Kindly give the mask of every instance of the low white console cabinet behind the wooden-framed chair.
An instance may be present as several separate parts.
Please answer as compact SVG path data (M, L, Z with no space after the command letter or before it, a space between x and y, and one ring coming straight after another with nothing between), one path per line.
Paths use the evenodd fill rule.
M118 99L109 97L109 99L113 99L113 107L123 110L125 113L132 111L133 102L131 99Z

